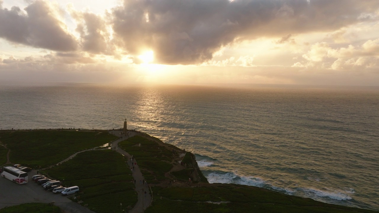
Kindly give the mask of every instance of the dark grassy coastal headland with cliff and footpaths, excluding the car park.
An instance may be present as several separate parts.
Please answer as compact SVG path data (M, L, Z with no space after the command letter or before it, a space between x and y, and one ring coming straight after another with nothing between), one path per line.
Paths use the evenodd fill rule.
M3 130L0 145L2 166L22 164L33 169L30 180L38 171L65 187L80 187L78 194L64 197L66 202L55 202L63 212L375 212L254 186L208 183L193 153L136 130ZM0 213L41 212L25 207L39 204L23 203L47 205L62 197L33 181L17 185L1 179L0 184L8 194Z

